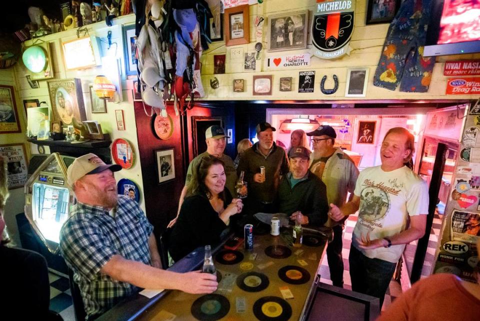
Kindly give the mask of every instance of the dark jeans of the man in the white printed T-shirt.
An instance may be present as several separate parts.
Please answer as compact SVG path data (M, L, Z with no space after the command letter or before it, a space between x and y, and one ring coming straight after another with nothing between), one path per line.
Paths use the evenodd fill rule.
M381 308L396 263L366 257L353 245L350 247L348 262L350 263L351 289L378 297Z

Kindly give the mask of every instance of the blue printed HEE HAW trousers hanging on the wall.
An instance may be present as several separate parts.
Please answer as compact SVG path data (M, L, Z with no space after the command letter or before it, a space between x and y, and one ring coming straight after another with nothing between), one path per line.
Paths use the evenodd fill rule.
M435 57L423 57L430 0L406 0L386 34L380 61L373 76L376 87L401 92L425 93L431 81Z

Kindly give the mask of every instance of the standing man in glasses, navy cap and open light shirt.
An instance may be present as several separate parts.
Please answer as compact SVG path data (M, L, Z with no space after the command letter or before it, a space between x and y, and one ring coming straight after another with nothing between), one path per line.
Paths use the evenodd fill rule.
M306 134L312 136L313 153L310 155L310 171L326 185L328 204L341 207L346 202L347 194L353 195L358 169L348 155L335 144L335 130L328 125L321 125ZM326 226L333 229L333 240L326 248L330 280L333 285L343 287L343 247L341 232L343 223L328 218Z

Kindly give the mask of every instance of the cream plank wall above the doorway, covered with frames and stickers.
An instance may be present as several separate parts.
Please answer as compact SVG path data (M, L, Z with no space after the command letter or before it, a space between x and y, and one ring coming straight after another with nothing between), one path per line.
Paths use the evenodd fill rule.
M422 65L434 64L432 72L419 75L422 84L431 79L425 93L373 86L380 57L383 55L387 62L394 58L394 49L390 46L383 51L383 45L389 21L400 1L392 3L394 6L385 8L384 12L375 4L371 0L320 3L315 0L265 0L246 9L241 7L241 12L248 10L249 31L245 34L249 42L229 45L223 35L213 37L209 49L200 58L204 99L258 99L259 91L264 96L261 99L271 100L453 98L446 91L449 78L442 74L445 62L478 59L480 54L436 57L436 63L435 57L423 58ZM234 12L238 12L240 7L235 9ZM318 29L325 29L324 15L333 11L337 28L328 28L320 41L316 33ZM231 23L227 19L222 22L225 21L229 26L221 26L221 29L227 35L231 33ZM318 25L317 29L312 29L313 22ZM340 37L345 34L350 37ZM404 71L407 72L416 71ZM454 98L476 98L466 90L452 94L461 95Z

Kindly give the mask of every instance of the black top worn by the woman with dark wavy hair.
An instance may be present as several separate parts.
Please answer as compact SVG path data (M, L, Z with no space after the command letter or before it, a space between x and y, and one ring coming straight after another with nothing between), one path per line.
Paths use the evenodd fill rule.
M232 198L226 188L224 192L223 208L226 208ZM180 213L168 238L168 252L174 261L178 261L199 246L218 243L221 232L226 228L206 196L188 196L181 204Z

